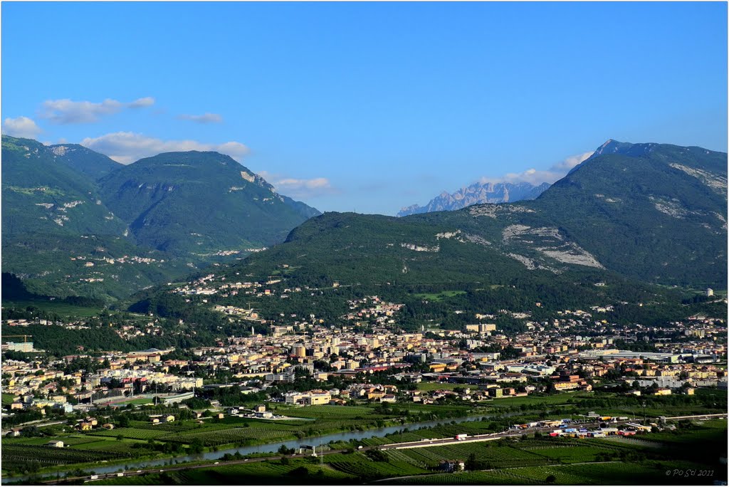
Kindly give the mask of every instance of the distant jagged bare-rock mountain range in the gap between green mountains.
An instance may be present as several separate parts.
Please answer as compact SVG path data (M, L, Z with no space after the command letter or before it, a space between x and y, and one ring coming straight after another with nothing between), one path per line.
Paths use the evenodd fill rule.
M426 206L411 205L401 209L398 217L430 211L451 211L478 203L513 203L519 200L533 200L550 187L549 183L537 186L528 182L475 182L468 187L448 193L442 192L430 200Z

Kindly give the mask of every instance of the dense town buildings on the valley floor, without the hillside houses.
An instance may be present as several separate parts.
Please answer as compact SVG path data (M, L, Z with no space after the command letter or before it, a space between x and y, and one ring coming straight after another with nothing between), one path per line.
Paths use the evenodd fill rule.
M360 303L375 319L389 318L394 306L373 301ZM359 316L359 311L354 313ZM705 326L688 327L712 335L718 330ZM574 335L554 335L535 327L533 333L507 338L498 330L478 326L467 330L402 333L375 327L372 333L355 332L353 327L332 329L323 324L287 327L278 335L252 335L230 338L222 346L192 350L194 359L165 359L171 350L137 352L109 351L88 357L100 364L93 372L63 373L63 367L82 354L66 356L48 365L40 362L7 360L3 364L3 389L17 397L11 409L62 408L71 403L91 404L109 397L120 399L134 394L151 394L155 388L176 393L203 386L203 378L225 370L246 385L292 383L297 371L323 385L333 376L354 383L346 390L322 387L286 394L292 405L346 403L351 400L375 402L440 400L499 400L534 392L575 391L593 388L596 381L610 375L615 383L626 383L631 393L692 394L697 387L726 388L725 370L703 363L692 352L621 351L613 348L615 337L585 339ZM698 338L703 340L704 338ZM512 346L518 357L502 359L499 352L461 348L463 340ZM594 348L582 349L584 343ZM685 348L685 344L682 346ZM201 373L202 372L202 373ZM423 381L455 383L432 391L398 389L370 380L386 373L399 383ZM378 375L381 376L381 375ZM8 378L9 377L9 378ZM373 383L374 382L374 383ZM645 393L645 391L644 391Z

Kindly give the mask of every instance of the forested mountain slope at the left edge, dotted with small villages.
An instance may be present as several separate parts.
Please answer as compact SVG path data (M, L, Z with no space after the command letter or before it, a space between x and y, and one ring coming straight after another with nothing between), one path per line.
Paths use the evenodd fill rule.
M90 157L104 163L103 156ZM89 151L90 152L90 151ZM136 246L86 174L52 147L2 138L2 268L48 295L122 297L189 267ZM93 173L93 171L90 171Z

